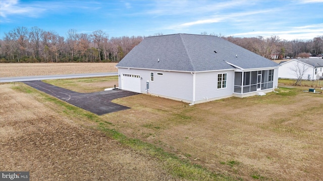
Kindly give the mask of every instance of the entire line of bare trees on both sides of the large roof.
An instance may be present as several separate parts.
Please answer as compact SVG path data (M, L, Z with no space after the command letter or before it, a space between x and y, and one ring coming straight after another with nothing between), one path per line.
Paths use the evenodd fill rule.
M206 32L201 34L207 35ZM278 36L217 36L268 59L309 57L323 53L323 36L292 41L282 40ZM65 38L54 31L44 31L38 27L17 27L5 33L5 37L0 40L0 62L119 62L143 38L109 38L102 30L86 34L74 29L70 29Z

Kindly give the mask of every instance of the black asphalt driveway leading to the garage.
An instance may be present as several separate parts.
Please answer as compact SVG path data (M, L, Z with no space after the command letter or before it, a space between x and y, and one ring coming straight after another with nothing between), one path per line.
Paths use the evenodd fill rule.
M129 107L118 105L112 103L111 101L117 98L138 95L138 93L124 91L121 89L83 94L73 92L69 89L51 85L39 80L24 81L23 83L97 115L130 109Z

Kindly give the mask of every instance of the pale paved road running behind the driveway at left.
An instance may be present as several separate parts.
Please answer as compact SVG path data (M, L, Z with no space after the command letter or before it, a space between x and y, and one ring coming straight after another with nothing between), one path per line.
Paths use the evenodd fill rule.
M98 77L98 76L113 76L113 75L118 75L118 72L80 73L80 74L66 74L66 75L39 75L39 76L22 76L22 77L0 77L0 82L48 80L48 79L60 79L60 78Z

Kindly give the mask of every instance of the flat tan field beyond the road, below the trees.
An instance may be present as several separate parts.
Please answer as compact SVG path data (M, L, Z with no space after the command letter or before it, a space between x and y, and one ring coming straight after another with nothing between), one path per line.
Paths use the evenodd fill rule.
M117 72L117 63L0 63L0 77Z

